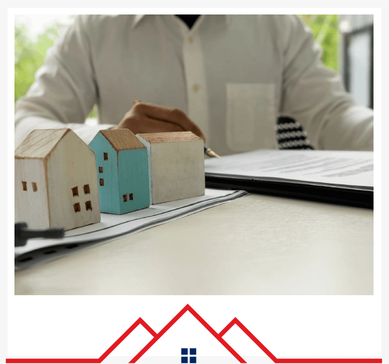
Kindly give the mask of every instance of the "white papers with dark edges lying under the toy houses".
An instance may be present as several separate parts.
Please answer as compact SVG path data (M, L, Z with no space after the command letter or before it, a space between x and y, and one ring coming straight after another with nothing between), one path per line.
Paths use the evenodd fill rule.
M25 246L15 247L15 269L122 238L247 194L246 191L205 188L205 194L198 197L151 205L123 215L102 213L100 222L65 231L61 239L29 239Z

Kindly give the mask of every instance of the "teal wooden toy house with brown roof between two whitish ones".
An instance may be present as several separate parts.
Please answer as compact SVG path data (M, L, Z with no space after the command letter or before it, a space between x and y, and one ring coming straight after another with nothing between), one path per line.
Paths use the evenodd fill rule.
M96 157L100 212L150 206L147 148L130 130L100 130L89 147Z

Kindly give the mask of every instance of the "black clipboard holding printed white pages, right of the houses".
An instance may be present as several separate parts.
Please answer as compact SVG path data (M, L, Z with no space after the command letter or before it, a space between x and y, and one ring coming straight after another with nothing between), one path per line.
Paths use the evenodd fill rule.
M373 203L374 152L259 150L205 161L208 187ZM342 201L343 200L343 201Z

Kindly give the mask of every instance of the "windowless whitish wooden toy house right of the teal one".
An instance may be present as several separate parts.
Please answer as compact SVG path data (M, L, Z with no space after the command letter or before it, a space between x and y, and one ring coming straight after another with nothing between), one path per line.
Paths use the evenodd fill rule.
M205 193L204 142L192 132L137 134L147 147L152 204Z

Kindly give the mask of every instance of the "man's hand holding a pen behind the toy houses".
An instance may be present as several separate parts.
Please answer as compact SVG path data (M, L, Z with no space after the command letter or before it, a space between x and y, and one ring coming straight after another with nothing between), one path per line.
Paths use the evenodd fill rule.
M140 101L134 102L115 129L130 129L134 134L189 131L205 142L201 130L183 111Z

